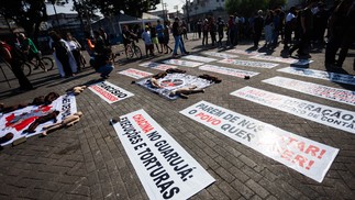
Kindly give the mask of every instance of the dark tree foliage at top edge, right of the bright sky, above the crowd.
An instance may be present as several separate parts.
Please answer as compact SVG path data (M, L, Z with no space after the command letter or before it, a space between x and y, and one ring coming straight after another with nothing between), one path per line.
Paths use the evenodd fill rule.
M257 10L276 9L285 5L286 0L226 0L225 10L229 14L253 15Z

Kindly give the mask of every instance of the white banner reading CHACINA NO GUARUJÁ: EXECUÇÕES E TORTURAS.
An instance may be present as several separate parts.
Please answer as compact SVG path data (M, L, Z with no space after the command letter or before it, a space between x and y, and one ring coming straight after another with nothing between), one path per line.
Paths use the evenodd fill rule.
M215 181L144 110L113 127L149 199L188 199Z

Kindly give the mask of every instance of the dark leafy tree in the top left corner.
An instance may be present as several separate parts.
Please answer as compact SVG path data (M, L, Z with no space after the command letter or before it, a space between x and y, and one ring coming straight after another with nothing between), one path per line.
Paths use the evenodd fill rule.
M0 14L22 26L34 41L41 23L47 20L44 0L0 0Z

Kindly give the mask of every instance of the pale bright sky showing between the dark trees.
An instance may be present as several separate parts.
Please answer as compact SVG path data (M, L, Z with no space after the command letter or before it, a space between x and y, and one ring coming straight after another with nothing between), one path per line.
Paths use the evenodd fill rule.
M163 0L166 3L167 9L169 12L176 12L174 9L175 5L178 5L179 11L181 12L181 8L185 4L186 0ZM162 0L160 0L162 2ZM65 4L64 7L55 5L57 13L65 12L65 13L76 13L76 11L70 11L73 8L73 1L69 0L69 4ZM157 5L157 10L162 10L162 3ZM54 9L52 4L47 4L47 12L48 14L54 14Z

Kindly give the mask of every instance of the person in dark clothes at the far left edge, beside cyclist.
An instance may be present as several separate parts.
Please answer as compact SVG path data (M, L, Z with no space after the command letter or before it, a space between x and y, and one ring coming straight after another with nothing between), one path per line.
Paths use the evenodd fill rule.
M20 90L25 91L34 89L27 77L23 74L21 68L23 55L14 44L9 45L5 42L0 41L0 56L11 65L11 70L19 80Z

